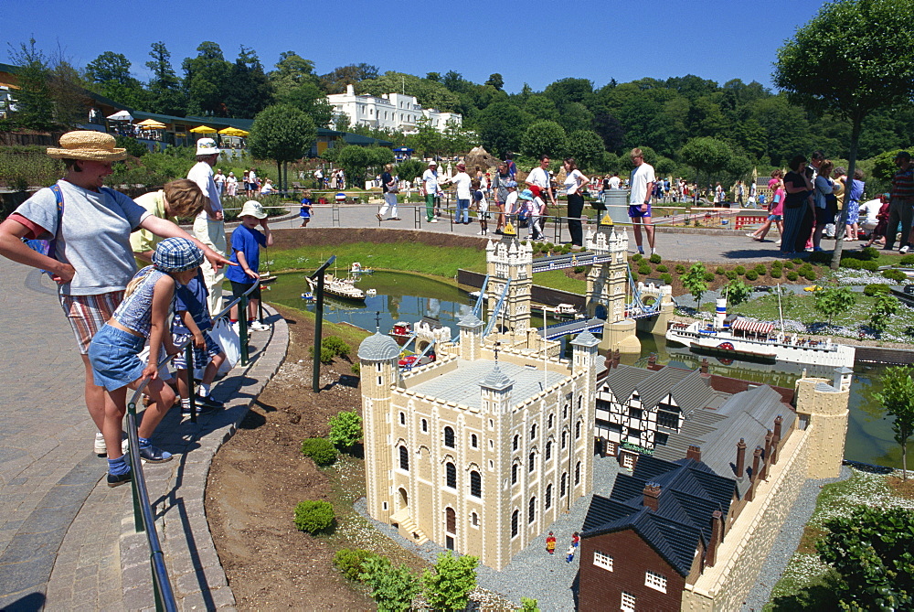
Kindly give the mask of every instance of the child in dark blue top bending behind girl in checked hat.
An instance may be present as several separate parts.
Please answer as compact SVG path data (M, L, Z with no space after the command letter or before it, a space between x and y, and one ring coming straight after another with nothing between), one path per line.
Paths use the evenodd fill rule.
M203 380L197 387L197 400L199 413L208 413L225 407L225 404L215 399L209 392L219 367L226 360L226 354L213 338L209 337L209 330L213 327L213 319L209 317L207 306L207 284L203 273L197 270L197 276L187 285L175 286L175 320L172 322L172 333L175 335L175 345L180 344L188 337L193 337L194 367L205 368ZM186 352L182 350L175 355L173 361L177 373L177 391L181 395L181 414L190 414L190 390L187 388L187 360Z

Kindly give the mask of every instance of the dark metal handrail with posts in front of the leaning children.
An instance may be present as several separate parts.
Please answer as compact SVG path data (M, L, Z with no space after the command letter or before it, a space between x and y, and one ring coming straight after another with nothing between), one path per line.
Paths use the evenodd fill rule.
M253 293L259 286L260 281L256 281L244 292L244 294L233 299L228 303L228 306L225 306L219 311L216 317L213 317L213 320L225 317L233 306L238 306L239 313L244 315L239 317L240 361L242 366L247 365L248 362L248 317L245 314L248 308L248 295ZM187 388L189 390L188 394L190 395L190 418L191 421L197 423L197 410L194 402L194 351L191 346L192 341L193 338L187 338L181 342L177 346L178 352L175 353L175 355L180 353L181 350L187 350ZM150 348L150 350L152 350L152 348ZM161 368L165 363L174 359L175 355L166 355L158 361L157 367ZM152 505L149 503L149 492L146 490L146 478L143 475L143 461L140 458L139 434L137 433L136 428L136 401L140 398L140 395L143 393L143 390L148 383L149 379L143 381L143 384L137 387L136 391L133 392L130 402L127 403L127 439L130 441L128 453L130 454L130 465L133 470L133 478L131 478L131 489L133 489L133 524L137 533L141 531L146 532L146 540L149 542L149 563L153 573L155 609L165 610L166 612L176 612L177 604L175 602L175 592L172 590L171 581L168 578L168 571L165 567L165 555L162 553L158 532L155 531L153 509Z

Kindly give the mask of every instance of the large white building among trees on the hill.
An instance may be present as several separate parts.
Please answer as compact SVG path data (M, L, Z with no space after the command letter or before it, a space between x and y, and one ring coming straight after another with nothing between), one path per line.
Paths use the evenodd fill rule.
M345 93L328 95L327 102L334 107L335 117L345 114L352 125L368 125L377 130L404 134L416 132L422 116L428 117L431 126L439 132L444 132L448 123L460 126L463 121L460 113L422 108L416 96L402 93L384 93L380 98L368 94L356 95L352 85L346 85Z

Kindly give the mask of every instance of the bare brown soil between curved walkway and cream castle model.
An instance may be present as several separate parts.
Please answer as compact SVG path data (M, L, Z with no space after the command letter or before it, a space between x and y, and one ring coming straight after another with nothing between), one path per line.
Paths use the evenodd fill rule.
M228 584L241 610L372 609L374 602L335 569L338 544L295 529L295 505L333 501L327 472L300 452L303 438L327 434L341 410L359 409L351 363L337 358L321 372L324 391L311 391L313 327L283 309L289 353L239 432L213 458L207 519ZM353 351L355 353L355 351Z

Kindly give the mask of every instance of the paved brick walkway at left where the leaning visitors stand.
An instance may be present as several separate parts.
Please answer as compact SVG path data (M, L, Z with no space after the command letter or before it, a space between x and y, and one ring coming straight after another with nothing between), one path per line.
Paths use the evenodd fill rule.
M54 287L37 271L0 258L0 609L143 609L154 606L145 534L133 529L130 487L109 489L83 402L83 369ZM175 453L144 473L179 606L233 607L209 536L203 494L212 456L247 413L288 346L268 309L271 333L252 338L252 361L213 394L227 410L181 423L169 413L155 434Z

